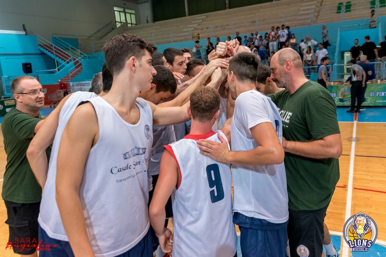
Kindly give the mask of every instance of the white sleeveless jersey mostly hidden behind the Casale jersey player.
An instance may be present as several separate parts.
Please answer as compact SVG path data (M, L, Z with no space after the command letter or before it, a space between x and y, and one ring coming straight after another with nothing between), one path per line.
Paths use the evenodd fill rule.
M68 241L55 199L56 159L58 157L59 143L62 138L64 127L78 104L81 101L94 97L96 97L96 94L92 92L75 92L71 94L71 96L63 104L59 113L58 128L52 144L51 157L48 164L47 181L44 185L38 218L39 225L51 238L54 239Z

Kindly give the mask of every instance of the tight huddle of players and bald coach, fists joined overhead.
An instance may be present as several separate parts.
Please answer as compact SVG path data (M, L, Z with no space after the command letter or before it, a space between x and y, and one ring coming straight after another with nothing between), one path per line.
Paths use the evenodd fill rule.
M296 51L268 68L221 42L182 88L135 35L103 50L101 94L66 96L27 151L39 240L58 245L39 256L233 257L235 224L243 257L322 256L342 143L335 102Z

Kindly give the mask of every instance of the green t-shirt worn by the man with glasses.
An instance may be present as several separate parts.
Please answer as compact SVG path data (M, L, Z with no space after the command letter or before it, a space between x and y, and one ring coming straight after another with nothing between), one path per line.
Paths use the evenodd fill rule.
M26 153L35 136L36 124L43 118L40 114L33 117L12 108L2 122L4 149L7 166L4 174L2 197L17 203L36 203L42 198L42 189L28 163ZM46 151L50 158L51 147Z

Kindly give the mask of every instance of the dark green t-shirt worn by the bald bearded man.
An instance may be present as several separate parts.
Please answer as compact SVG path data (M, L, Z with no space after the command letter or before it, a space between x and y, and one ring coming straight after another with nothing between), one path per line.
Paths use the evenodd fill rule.
M310 142L340 134L335 102L318 83L308 81L292 95L282 90L269 96L279 109L286 140ZM284 165L290 209L317 210L329 203L339 180L338 159L285 153Z

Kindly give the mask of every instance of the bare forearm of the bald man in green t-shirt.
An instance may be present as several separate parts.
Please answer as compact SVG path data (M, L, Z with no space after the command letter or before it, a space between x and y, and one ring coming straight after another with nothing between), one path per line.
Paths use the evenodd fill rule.
M339 158L342 154L340 134L334 134L311 142L286 141L283 138L284 152L314 159Z

